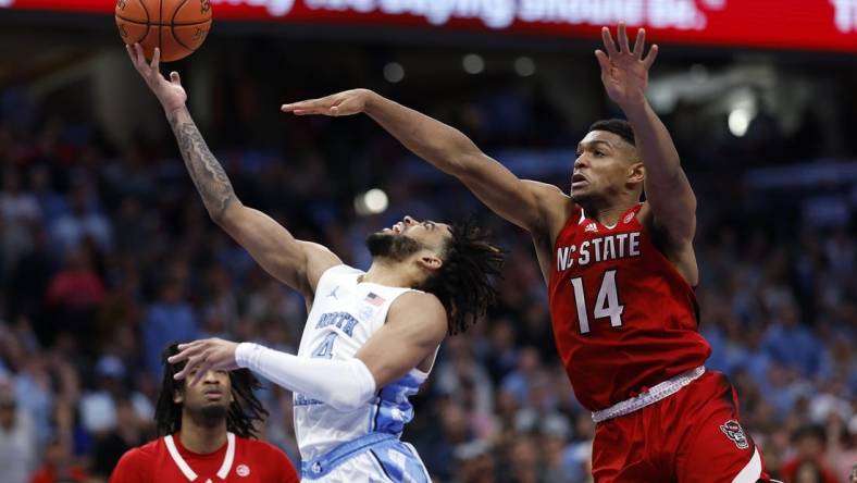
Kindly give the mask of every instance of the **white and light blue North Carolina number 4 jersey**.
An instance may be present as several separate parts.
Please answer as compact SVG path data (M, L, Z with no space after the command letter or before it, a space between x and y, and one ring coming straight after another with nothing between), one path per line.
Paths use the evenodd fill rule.
M364 272L337 265L327 269L315 287L312 310L303 327L298 357L348 360L384 326L398 296L410 288L358 283ZM408 397L417 394L427 372L411 370L399 381L378 388L375 398L353 411L339 411L294 395L295 435L305 461L369 433L400 435L413 419Z

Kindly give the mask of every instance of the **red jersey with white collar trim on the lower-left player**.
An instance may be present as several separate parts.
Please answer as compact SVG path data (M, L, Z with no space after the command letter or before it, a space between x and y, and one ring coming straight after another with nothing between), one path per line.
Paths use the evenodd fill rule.
M297 483L295 467L270 443L229 433L210 455L182 446L178 434L125 453L110 483Z

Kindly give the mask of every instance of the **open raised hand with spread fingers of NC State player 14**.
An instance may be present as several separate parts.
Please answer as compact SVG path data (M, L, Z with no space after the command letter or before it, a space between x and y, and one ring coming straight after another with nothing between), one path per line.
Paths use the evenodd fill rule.
M646 100L648 88L648 71L658 57L658 46L651 46L648 55L643 55L646 50L646 30L641 28L634 48L628 39L625 24L619 24L618 40L608 27L601 29L604 50L596 50L595 57L601 65L601 82L607 89L607 95L620 107L639 104Z

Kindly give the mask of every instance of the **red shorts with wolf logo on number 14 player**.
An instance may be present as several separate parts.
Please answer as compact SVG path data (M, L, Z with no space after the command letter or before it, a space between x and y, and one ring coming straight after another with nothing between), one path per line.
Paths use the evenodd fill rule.
M761 451L738 424L735 389L720 372L598 423L593 475L595 483L769 481Z

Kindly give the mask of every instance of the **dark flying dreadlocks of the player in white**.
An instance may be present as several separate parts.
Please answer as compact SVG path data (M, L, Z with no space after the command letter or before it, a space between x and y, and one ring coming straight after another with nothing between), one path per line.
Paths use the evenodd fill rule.
M451 226L442 255L444 264L414 287L434 294L444 305L449 334L456 335L485 314L497 299L493 282L500 276L504 251L486 240L473 219Z

